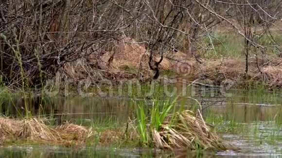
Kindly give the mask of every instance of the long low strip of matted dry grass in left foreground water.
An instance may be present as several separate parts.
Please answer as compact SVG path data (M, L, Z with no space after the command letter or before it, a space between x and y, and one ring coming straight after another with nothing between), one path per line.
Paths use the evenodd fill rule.
M130 124L126 128L105 129L97 132L92 128L64 123L60 126L46 126L42 120L10 119L0 117L0 142L20 141L36 143L53 143L69 146L85 146L87 140L94 142L94 136L98 136L98 145L119 144L121 141L134 141L138 139L136 128Z

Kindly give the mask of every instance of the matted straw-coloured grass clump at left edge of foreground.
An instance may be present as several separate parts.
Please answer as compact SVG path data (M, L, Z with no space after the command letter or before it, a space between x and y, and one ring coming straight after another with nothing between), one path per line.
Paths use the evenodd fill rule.
M92 129L65 123L61 126L50 127L42 120L10 119L0 117L0 140L28 140L35 142L85 144L91 137Z

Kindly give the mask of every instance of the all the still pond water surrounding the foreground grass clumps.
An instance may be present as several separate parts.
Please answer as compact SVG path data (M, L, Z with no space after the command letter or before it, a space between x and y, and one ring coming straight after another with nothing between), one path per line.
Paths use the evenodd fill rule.
M246 92L233 90L229 96L212 91L197 91L197 98L203 105L204 118L216 125L219 135L238 147L238 151L218 153L204 152L201 157L282 157L282 130L280 112L282 111L281 93ZM54 124L70 121L89 125L95 120L126 122L133 118L132 102L138 99L125 97L54 97L52 102L40 104L42 111L31 111L36 115L54 118ZM151 106L152 101L146 100ZM6 105L11 103L4 102ZM14 107L21 107L20 99L14 100ZM35 101L30 101L35 104ZM17 117L13 108L3 108L2 114ZM187 109L193 105L191 100L185 103ZM33 106L31 106L33 107ZM218 120L221 121L218 124ZM218 125L217 125L218 124ZM0 157L46 158L46 157L189 157L199 156L191 151L158 151L135 148L63 148L58 146L21 145L0 148Z

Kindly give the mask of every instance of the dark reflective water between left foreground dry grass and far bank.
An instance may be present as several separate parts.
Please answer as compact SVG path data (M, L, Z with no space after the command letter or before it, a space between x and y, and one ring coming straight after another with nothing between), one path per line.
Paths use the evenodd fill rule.
M33 116L52 115L59 120L58 124L62 121L103 120L109 117L126 121L133 114L133 108L130 106L131 99L76 96L52 98L48 102L41 103L34 100L28 99L27 102L24 102L22 98L19 98L8 103L0 100L2 103L0 112L5 116L19 117L25 115L25 109L28 109Z

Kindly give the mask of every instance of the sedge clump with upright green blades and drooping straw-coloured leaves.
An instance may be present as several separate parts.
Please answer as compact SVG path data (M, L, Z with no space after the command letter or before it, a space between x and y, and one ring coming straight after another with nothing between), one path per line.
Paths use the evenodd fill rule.
M145 116L143 105L137 108L140 142L160 149L213 149L228 150L236 147L224 142L212 132L199 110L176 111L175 101L155 101L151 116Z

